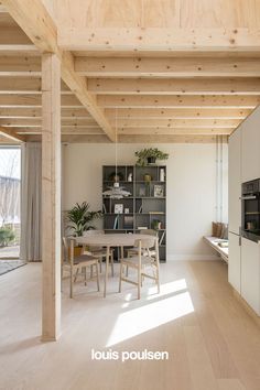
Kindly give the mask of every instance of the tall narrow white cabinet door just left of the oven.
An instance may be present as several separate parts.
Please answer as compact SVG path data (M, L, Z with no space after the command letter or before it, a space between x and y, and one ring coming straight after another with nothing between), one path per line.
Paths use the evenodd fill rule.
M237 235L241 226L241 129L242 124L228 143L228 229Z

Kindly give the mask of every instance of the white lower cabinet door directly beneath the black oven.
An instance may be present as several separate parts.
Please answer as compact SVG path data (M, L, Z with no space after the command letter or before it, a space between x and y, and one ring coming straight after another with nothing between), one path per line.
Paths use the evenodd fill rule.
M242 238L241 295L260 315L260 245Z

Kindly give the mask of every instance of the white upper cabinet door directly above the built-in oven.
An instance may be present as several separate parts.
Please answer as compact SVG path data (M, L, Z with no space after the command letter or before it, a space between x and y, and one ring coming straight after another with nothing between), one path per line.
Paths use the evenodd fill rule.
M260 107L242 123L242 182L260 177Z

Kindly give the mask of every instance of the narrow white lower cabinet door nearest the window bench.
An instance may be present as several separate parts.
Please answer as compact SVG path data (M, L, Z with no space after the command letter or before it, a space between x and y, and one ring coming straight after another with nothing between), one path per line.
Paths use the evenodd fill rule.
M228 234L228 281L234 289L241 293L241 247L239 236Z

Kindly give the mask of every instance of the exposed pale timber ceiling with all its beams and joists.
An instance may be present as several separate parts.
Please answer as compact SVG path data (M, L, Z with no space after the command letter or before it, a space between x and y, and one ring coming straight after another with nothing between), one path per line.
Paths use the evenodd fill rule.
M0 1L0 143L41 139L50 51L64 141L227 140L260 104L260 1L44 3Z

